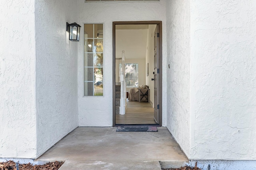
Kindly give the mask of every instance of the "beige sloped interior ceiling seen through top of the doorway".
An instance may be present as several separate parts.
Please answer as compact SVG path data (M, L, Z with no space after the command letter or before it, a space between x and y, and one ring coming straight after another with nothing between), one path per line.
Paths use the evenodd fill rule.
M116 25L116 58L145 59L148 25Z

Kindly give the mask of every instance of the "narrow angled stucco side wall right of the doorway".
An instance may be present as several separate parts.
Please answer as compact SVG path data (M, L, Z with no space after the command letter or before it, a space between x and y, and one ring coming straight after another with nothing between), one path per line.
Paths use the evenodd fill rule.
M171 0L167 20L167 128L190 155L190 1Z

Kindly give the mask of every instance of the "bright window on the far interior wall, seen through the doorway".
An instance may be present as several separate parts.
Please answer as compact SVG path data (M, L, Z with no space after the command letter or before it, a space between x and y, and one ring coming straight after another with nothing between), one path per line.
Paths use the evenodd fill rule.
M139 64L138 63L125 63L124 74L126 87L138 87L139 84ZM119 72L122 71L122 64L119 64Z

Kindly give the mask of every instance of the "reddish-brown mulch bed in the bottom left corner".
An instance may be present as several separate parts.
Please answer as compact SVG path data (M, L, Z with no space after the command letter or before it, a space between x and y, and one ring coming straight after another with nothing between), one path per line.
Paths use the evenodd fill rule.
M58 170L64 162L48 162L44 165L19 164L19 170ZM0 170L16 170L16 163L12 160L0 162Z

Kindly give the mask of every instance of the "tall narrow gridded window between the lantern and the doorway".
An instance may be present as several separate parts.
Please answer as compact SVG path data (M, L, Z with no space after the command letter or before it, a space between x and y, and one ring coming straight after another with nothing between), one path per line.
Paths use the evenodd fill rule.
M103 24L84 24L84 96L103 96Z

